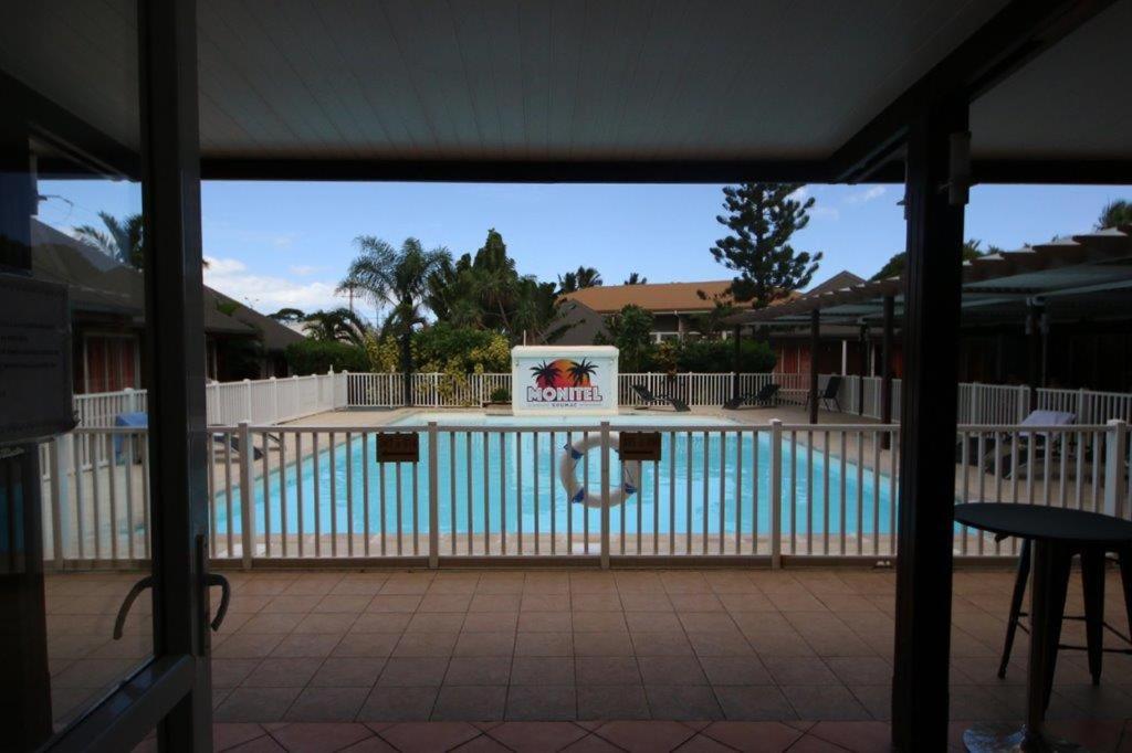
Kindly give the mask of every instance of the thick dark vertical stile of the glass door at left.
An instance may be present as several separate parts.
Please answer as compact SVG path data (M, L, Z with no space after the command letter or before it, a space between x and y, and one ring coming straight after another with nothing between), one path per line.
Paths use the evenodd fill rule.
M151 354L154 649L197 659L160 725L163 751L212 744L207 633L205 336L195 0L140 5L146 348Z

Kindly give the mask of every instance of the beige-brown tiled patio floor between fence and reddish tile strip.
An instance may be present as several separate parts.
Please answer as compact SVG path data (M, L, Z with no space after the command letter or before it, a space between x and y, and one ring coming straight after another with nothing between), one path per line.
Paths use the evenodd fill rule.
M232 606L214 638L221 722L889 718L894 578L886 571L229 577ZM131 577L51 581L76 578L106 586ZM1021 717L1024 635L1006 680L995 676L1011 583L1007 571L955 577L953 719ZM97 618L109 637L118 603L104 600ZM55 597L52 624L96 604ZM1107 604L1123 629L1115 579ZM1074 583L1071 611L1079 608ZM1066 623L1066 640L1080 632ZM57 672L87 676L102 656L105 647L93 647ZM1052 719L1132 718L1132 657L1105 661L1104 683L1094 687L1083 655L1062 654Z

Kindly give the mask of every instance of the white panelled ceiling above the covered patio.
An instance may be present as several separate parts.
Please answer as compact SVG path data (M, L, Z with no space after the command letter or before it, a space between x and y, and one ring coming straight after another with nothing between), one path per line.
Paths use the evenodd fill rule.
M18 2L0 68L136 147L134 1ZM821 161L1004 5L198 0L201 152ZM1130 27L1118 0L977 101L976 156L1132 157Z

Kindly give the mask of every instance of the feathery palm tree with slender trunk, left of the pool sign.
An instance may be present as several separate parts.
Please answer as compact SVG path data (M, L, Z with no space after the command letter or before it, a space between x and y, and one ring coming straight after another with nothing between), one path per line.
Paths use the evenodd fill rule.
M353 289L379 308L391 306L383 330L401 340L405 404L412 405L412 331L424 323L421 306L430 293L429 279L452 262L452 254L445 248L426 251L414 237L405 239L400 249L374 235L359 235L354 244L359 254L338 291Z

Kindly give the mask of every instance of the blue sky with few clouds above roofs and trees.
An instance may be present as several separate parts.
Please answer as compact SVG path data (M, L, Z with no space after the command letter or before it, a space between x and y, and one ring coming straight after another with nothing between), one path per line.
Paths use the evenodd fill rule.
M824 259L813 284L848 269L869 277L904 244L898 185L807 185L809 225L799 251ZM136 187L52 182L41 219L59 227L98 224L96 209L138 210ZM1100 208L1132 198L1113 187L976 187L967 237L1017 249L1091 230ZM518 271L555 280L580 265L604 283L636 271L651 283L732 276L709 249L726 228L720 185L218 182L201 188L205 282L269 313L344 305L334 288L358 235L394 245L409 236L454 256L474 252L488 228L503 234Z

